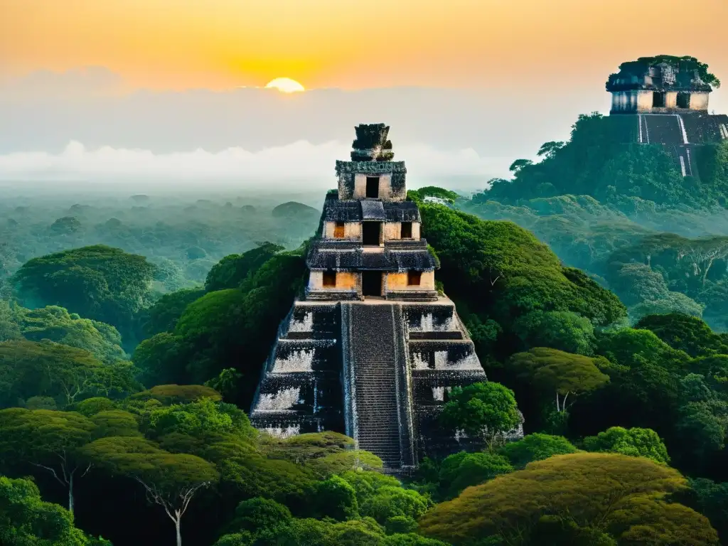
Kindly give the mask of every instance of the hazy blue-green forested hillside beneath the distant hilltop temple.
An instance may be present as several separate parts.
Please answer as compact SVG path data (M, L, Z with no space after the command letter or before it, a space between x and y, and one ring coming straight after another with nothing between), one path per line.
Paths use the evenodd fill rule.
M456 206L534 232L613 290L633 323L676 311L728 330L728 143L697 148L699 173L682 176L665 147L624 143L617 122L579 116L568 142Z

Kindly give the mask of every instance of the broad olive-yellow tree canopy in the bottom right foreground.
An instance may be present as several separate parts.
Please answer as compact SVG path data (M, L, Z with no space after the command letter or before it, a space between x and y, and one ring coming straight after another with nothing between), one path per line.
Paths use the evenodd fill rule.
M539 518L548 513L563 515L578 528L611 535L620 544L644 544L638 537L652 537L654 542L647 542L652 544L718 544L707 518L664 500L665 494L686 485L676 470L649 459L558 455L466 489L427 513L420 529L454 545L484 537L539 544ZM605 544L601 539L597 543Z

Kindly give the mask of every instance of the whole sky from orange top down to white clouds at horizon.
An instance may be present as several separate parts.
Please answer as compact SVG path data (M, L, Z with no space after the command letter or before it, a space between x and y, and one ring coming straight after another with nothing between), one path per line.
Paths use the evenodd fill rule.
M677 0L528 9L455 0L444 11L375 0L373 12L384 11L367 26L367 43L380 44L373 52L341 25L356 24L357 7L331 0L305 9L292 0L64 4L0 7L6 189L326 189L353 127L384 122L411 184L470 191L509 176L510 163L534 159L542 143L568 139L579 114L606 114L604 82L624 61L694 55L728 80L728 47L716 39L728 20L721 0L703 4L703 23L689 27ZM675 31L646 32L646 18ZM277 76L306 91L263 89ZM711 110L728 111L727 97L713 92Z

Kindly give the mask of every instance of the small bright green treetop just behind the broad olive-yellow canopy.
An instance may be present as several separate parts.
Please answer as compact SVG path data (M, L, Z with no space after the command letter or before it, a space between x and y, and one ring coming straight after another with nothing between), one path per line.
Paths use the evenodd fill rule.
M587 451L647 457L664 464L670 462L665 444L651 429L612 427L596 436L584 438L584 448Z

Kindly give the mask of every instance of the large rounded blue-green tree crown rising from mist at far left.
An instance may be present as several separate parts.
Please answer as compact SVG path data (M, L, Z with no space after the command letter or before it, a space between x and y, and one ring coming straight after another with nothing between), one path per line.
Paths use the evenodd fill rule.
M25 299L60 305L127 332L134 314L149 303L153 275L154 266L143 256L95 245L33 258L15 280Z

